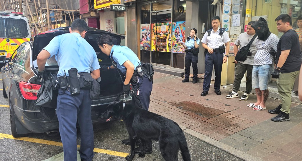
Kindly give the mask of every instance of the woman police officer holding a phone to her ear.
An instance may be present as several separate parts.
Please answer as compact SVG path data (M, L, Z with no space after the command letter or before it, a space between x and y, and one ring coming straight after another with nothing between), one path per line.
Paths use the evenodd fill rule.
M199 46L199 38L196 36L197 30L195 28L192 28L190 31L190 36L187 38L187 41L184 43L182 41L179 41L182 46L187 49L186 50L186 57L185 57L185 79L182 80L182 82L188 82L189 81L189 75L190 75L190 67L192 63L193 67L193 82L197 83L197 62L198 62L198 55L193 54L193 49L198 48Z

